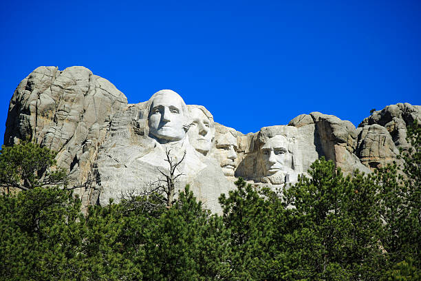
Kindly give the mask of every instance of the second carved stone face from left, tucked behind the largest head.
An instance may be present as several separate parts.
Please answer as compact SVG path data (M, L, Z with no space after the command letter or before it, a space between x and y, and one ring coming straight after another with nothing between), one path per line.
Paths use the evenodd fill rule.
M214 136L214 132L211 132L210 120L199 108L193 108L190 114L192 123L188 129L188 138L198 152L206 155Z

